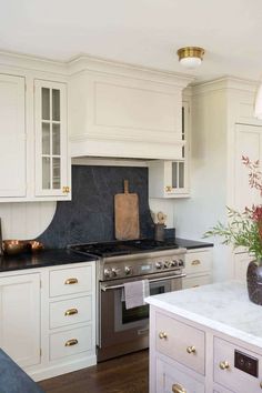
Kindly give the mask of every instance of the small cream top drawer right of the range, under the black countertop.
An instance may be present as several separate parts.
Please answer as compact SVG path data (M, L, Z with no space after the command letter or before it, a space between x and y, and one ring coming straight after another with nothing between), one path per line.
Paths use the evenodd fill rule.
M189 252L185 254L185 273L198 274L211 271L211 251Z

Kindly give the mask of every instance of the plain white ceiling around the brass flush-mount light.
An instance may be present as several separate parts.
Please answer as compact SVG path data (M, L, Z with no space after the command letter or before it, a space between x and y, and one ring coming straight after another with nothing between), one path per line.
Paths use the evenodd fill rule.
M1 0L0 49L54 60L80 53L192 73L262 79L261 0ZM177 50L203 47L189 71Z

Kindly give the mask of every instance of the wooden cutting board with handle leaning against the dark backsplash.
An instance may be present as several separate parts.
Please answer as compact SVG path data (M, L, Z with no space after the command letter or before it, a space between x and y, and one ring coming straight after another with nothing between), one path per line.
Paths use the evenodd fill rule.
M114 231L117 240L139 239L139 196L129 193L129 181L123 182L124 193L114 195Z

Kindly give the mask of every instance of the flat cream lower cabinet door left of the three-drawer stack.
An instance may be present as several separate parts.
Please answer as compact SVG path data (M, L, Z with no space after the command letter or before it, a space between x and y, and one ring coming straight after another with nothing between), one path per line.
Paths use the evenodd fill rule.
M20 366L40 362L40 274L0 278L0 347Z

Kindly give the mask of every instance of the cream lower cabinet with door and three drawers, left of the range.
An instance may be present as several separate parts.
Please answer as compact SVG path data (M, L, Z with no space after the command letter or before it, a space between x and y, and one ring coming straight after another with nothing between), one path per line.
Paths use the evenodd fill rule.
M0 347L34 381L95 364L95 263L21 272L0 273Z

